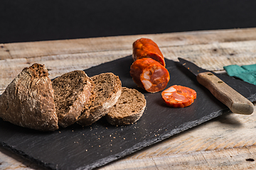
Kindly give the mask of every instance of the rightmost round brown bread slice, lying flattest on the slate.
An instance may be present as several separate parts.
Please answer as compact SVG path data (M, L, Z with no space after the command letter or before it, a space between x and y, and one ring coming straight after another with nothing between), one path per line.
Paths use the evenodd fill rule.
M107 113L107 122L111 125L129 125L142 117L146 108L144 95L136 89L122 87L122 94L117 103Z

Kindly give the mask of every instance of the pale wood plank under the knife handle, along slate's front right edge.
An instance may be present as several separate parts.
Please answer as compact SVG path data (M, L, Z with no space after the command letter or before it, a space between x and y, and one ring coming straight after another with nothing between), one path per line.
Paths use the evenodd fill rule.
M127 159L256 146L255 120L256 108L252 115L220 115L203 125L136 152Z

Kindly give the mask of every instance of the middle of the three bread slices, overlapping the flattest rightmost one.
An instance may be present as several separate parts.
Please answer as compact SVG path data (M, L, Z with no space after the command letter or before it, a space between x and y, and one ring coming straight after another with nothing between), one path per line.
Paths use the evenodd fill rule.
M85 106L78 123L82 126L91 125L106 115L121 95L122 83L113 73L102 73L91 77L95 83L95 98L90 105Z

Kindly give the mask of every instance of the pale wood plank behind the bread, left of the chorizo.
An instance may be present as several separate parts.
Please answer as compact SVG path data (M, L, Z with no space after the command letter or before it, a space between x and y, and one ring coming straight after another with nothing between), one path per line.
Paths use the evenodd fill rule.
M45 64L49 70L50 79L53 79L66 72L87 69L102 62L110 62L128 55L131 55L129 50L122 50L0 60L0 90L5 89L24 67L29 67L35 62Z

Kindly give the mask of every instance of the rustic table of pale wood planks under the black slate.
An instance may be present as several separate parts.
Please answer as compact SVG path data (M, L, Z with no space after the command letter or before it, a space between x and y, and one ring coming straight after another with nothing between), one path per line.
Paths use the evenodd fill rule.
M23 67L45 64L50 79L132 55L151 38L164 57L183 57L215 72L256 64L256 28L0 44L0 94ZM256 114L221 115L100 169L256 169ZM43 169L0 148L0 169Z

